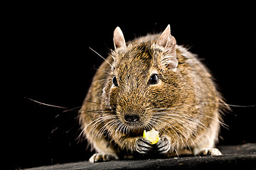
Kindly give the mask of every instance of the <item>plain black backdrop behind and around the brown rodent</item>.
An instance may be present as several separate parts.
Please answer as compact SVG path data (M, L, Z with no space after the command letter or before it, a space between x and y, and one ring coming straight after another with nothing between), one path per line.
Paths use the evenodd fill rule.
M2 122L11 168L90 157L80 134L82 105L97 67L113 49L114 28L126 40L160 33L168 24L178 45L188 45L211 70L228 104L255 105L255 13L252 4L12 4L6 11L7 110ZM7 74L5 74L8 72ZM231 107L220 145L256 142L255 107ZM5 133L4 133L5 134ZM10 167L10 165L9 165Z

